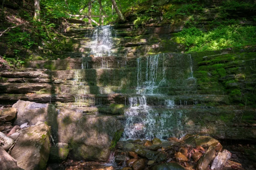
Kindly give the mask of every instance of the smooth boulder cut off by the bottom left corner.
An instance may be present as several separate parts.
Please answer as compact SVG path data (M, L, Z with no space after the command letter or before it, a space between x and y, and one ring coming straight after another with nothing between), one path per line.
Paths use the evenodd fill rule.
M17 166L17 161L13 159L2 147L0 147L0 169L1 170L24 170Z

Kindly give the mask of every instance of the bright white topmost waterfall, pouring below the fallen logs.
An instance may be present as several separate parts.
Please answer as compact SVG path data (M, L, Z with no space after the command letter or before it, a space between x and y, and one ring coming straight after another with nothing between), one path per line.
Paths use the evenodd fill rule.
M91 48L91 54L95 56L110 56L113 47L112 27L110 25L95 27L92 34L92 41L88 47Z

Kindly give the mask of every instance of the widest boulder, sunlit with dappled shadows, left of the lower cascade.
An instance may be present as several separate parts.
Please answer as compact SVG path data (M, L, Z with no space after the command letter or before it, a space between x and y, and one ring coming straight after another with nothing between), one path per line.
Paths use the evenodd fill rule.
M55 108L51 104L18 101L16 125L37 121L51 126L55 141L68 143L70 156L83 160L107 161L110 149L114 148L122 135L121 123L112 116L85 115L66 108Z

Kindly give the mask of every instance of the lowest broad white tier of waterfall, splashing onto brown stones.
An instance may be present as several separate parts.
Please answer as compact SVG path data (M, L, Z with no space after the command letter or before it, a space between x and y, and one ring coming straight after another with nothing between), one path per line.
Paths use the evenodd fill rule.
M129 97L130 107L125 110L126 123L121 140L127 139L166 139L169 136L182 137L182 111L167 110L159 112L147 105L145 96ZM173 100L166 100L169 108ZM175 133L170 133L175 130Z

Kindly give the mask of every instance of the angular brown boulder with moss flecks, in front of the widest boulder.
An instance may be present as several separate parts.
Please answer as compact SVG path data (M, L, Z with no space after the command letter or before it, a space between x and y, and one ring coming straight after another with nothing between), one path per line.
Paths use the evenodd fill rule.
M11 156L17 160L17 165L25 170L45 170L50 153L50 128L38 122L10 135L14 140L18 138Z

